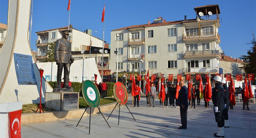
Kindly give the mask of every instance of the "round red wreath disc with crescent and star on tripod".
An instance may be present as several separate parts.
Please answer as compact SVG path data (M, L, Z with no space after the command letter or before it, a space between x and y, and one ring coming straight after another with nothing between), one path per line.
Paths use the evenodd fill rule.
M116 101L122 105L125 105L128 100L128 94L123 83L116 82L113 89Z

